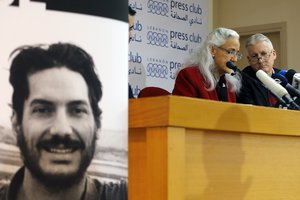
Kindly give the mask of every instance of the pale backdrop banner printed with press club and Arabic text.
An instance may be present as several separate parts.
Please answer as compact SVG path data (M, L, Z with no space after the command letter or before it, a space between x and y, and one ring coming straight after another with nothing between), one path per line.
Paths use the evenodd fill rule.
M208 35L208 0L129 0L136 11L129 44L134 96L147 86L172 92L176 73Z

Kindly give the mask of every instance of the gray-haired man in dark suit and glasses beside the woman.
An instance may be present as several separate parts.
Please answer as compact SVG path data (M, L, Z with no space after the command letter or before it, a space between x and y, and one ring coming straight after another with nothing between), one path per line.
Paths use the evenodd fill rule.
M273 67L277 56L273 44L268 37L257 33L246 40L245 46L249 66L243 69L242 88L237 102L258 106L274 106L277 100L256 77L258 70L263 70L269 76L280 71Z

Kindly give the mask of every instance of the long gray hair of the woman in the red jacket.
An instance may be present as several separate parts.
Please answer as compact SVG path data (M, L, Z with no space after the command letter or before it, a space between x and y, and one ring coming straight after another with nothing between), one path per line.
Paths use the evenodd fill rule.
M222 46L230 38L239 39L240 36L236 31L231 29L215 29L207 36L206 40L195 49L193 55L185 63L185 66L197 66L199 68L207 84L206 89L208 91L216 88L217 84L217 80L213 74L216 66L211 54L211 48L213 46Z

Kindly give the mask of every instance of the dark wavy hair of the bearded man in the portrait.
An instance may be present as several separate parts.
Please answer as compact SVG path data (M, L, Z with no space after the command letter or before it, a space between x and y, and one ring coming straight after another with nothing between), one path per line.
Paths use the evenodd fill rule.
M12 108L17 113L19 124L23 118L24 101L29 97L29 75L44 69L66 67L81 74L87 83L95 122L100 127L101 109L98 102L102 97L102 86L93 59L86 51L73 44L55 43L19 47L11 55L15 55L9 77L13 87Z

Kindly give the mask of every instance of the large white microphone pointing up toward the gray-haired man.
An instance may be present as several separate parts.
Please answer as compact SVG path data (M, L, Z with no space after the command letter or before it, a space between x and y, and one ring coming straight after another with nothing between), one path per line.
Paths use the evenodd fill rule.
M256 72L256 77L274 94L281 97L291 109L299 110L300 107L294 102L287 90L278 84L274 79L272 79L263 70L258 70Z

